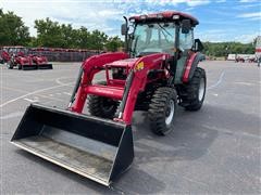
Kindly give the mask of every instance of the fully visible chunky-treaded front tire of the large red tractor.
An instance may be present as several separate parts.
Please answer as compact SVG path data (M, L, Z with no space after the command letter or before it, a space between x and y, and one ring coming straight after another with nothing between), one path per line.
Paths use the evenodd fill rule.
M176 103L175 89L161 87L156 90L148 110L150 129L153 133L165 135L173 130Z

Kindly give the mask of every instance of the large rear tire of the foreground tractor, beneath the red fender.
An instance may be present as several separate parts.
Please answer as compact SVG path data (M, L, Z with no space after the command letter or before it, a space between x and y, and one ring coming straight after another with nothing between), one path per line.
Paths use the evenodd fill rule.
M204 69L197 67L191 80L185 86L186 95L183 98L186 110L199 110L206 95L207 78Z

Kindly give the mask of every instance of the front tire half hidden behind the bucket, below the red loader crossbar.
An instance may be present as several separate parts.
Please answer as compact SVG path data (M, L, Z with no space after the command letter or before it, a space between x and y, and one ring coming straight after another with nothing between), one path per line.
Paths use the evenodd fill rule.
M99 84L105 86L107 82L101 81ZM104 96L89 95L88 108L94 116L112 119L117 110L119 101L114 101Z

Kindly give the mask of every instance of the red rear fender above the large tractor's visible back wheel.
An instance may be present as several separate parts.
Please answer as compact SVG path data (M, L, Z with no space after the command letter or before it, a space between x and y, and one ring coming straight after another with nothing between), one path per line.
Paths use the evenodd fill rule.
M197 68L199 62L204 60L204 55L202 53L192 53L186 63L186 68L183 75L183 82L189 82L194 76L195 69Z

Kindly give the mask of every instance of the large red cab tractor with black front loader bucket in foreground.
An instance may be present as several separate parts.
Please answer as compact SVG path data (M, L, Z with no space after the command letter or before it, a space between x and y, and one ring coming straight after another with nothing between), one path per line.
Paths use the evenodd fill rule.
M152 132L165 135L175 130L177 105L198 110L206 94L195 17L163 12L124 18L125 52L87 58L67 109L32 104L11 140L104 185L133 162L134 110L147 110ZM104 81L94 81L98 73ZM89 115L83 114L86 100Z

